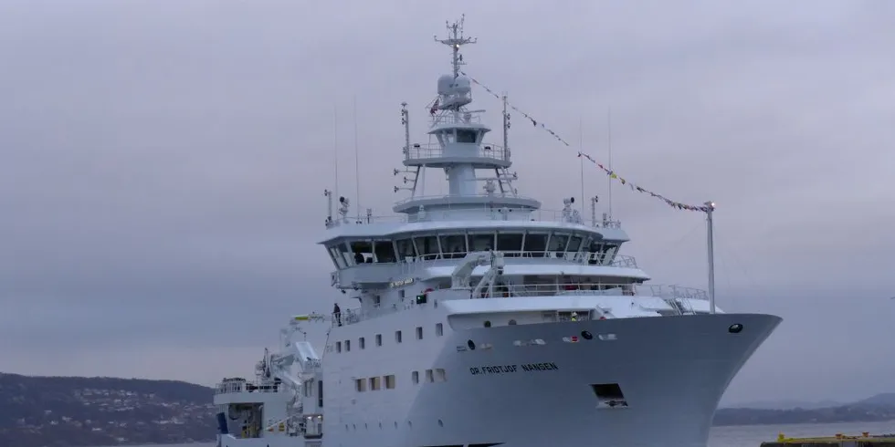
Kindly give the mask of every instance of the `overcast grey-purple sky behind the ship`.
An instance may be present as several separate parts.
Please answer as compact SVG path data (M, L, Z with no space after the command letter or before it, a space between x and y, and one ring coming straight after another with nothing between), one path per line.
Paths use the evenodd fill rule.
M600 160L611 107L617 172L719 203L719 305L784 317L726 401L895 391L895 3L785 5L2 1L0 370L249 375L290 315L342 297L315 244L336 158L364 208L403 197L400 103L424 140L449 71L432 36L466 13L472 77ZM576 149L513 121L520 192L580 196ZM613 196L624 254L705 286L702 214Z

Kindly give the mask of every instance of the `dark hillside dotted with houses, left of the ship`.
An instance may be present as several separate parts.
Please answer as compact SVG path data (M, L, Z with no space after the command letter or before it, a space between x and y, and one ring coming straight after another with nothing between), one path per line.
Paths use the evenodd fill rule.
M0 373L0 446L214 440L214 390L174 380Z

